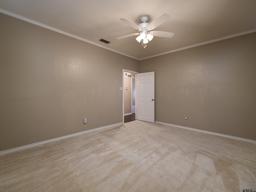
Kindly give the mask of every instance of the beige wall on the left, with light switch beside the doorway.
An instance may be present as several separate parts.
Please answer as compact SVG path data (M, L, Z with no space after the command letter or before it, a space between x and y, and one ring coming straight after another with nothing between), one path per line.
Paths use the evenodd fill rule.
M138 60L4 14L0 22L0 151L122 122L122 69L138 71Z

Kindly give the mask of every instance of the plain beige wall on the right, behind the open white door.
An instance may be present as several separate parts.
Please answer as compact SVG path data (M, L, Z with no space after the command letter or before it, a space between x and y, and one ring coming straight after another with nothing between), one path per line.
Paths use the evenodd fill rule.
M156 121L256 140L256 33L140 61L150 71Z

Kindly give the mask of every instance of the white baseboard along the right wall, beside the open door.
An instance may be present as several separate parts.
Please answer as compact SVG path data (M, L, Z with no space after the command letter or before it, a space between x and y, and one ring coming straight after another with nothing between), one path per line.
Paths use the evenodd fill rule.
M235 137L235 136L230 136L230 135L225 135L225 134L220 134L220 133L215 133L215 132L210 132L210 131L205 131L205 130L200 130L200 129L195 129L195 128L190 128L190 127L184 127L184 126L179 126L179 125L174 125L174 124L169 124L169 123L163 123L163 122L159 122L159 121L155 121L155 123L168 125L168 126L174 126L174 127L178 127L178 128L182 128L182 129L188 129L188 130L192 130L192 131L198 131L198 132L212 134L212 135L216 135L216 136L222 136L222 137L236 139L236 140L241 140L241 141L245 141L245 142L256 143L256 141L250 140L250 139L244 139L244 138L240 138L240 137Z

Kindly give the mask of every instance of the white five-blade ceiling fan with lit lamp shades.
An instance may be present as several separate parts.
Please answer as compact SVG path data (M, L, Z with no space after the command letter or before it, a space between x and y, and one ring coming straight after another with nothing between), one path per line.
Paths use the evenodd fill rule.
M174 35L174 33L164 32L164 31L151 31L154 28L158 27L160 24L164 23L169 18L171 18L171 16L168 13L164 13L161 16L159 16L158 18L156 18L154 21L152 21L151 23L148 23L148 17L144 16L144 17L140 18L140 21L142 23L139 25L135 24L134 22L132 22L126 18L120 18L121 21L123 21L126 24L130 25L131 27L137 29L139 32L125 35L122 37L118 37L117 39L123 39L123 38L131 37L131 36L139 35L138 37L136 37L136 40L138 42L142 42L142 46L144 46L144 48L146 48L146 46L147 46L146 44L149 41L151 41L154 36L171 38Z

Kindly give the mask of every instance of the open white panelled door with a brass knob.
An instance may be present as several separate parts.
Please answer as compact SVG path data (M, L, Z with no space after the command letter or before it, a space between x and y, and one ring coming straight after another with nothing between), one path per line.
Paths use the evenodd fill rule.
M137 74L137 120L155 122L155 72Z

